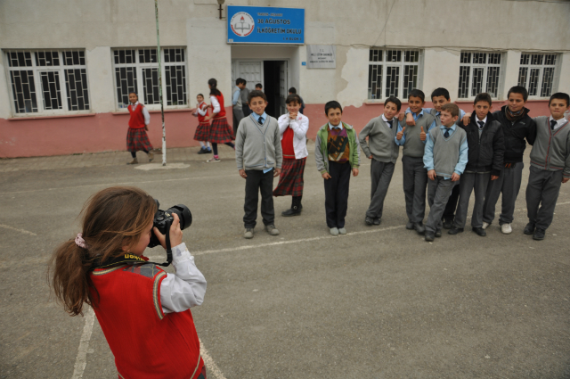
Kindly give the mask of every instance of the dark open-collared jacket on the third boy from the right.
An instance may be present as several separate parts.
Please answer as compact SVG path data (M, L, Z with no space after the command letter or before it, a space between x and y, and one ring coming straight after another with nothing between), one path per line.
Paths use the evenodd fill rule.
M505 154L505 139L501 123L487 114L485 126L479 137L479 126L476 123L476 113L471 114L468 126L460 123L467 133L468 162L463 172L491 172L491 175L501 175L503 156Z

